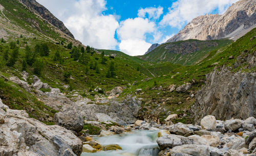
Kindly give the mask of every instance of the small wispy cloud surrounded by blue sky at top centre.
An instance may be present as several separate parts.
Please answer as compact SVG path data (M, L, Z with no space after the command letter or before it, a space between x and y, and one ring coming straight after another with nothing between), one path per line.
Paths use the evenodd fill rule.
M146 14L148 14L148 18L158 19L163 14L163 7L150 7L150 8L141 8L138 10L138 16L139 17L145 17Z

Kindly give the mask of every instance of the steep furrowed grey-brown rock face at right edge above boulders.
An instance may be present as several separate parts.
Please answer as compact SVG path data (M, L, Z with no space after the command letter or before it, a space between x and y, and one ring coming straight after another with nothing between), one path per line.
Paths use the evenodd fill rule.
M198 123L206 115L220 120L256 116L255 80L256 73L231 73L226 68L206 74L206 85L197 92L191 107L195 121Z

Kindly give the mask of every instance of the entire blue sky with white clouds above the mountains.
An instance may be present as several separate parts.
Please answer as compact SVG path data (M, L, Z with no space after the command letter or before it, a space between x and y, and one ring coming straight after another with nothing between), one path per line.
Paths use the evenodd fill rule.
M76 39L96 49L143 55L193 18L223 14L238 0L36 0Z

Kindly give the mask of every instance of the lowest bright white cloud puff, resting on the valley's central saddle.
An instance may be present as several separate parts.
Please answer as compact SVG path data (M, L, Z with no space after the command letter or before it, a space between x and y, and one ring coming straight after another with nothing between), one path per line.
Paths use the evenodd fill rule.
M143 55L151 45L143 39L126 39L121 41L119 48L128 55L136 56Z

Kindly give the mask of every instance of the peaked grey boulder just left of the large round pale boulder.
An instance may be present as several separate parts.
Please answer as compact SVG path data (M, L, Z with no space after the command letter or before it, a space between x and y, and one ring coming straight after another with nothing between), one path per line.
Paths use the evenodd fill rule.
M167 126L166 129L172 133L175 133L176 135L181 135L181 136L184 136L186 133L193 131L193 130L190 130L188 127L186 127L182 123L177 123L174 125Z

